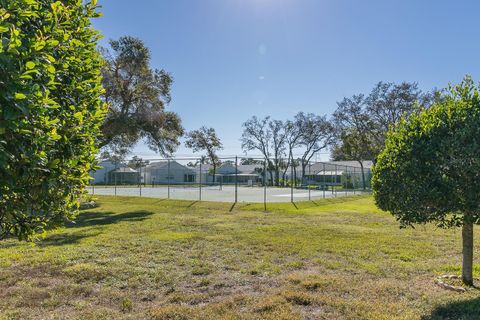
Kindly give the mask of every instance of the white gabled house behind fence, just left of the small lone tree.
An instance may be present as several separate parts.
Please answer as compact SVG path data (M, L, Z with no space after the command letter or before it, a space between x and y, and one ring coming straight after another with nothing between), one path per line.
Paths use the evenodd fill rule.
M152 162L143 172L146 184L188 184L195 183L195 171L177 161Z

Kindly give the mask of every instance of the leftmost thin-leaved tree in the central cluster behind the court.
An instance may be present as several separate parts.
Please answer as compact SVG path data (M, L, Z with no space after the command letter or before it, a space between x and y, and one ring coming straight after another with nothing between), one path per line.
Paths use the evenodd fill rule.
M267 167L273 167L271 161L270 143L272 132L269 130L270 117L259 119L253 116L251 119L243 123L242 133L242 149L245 151L258 150L267 161ZM270 181L273 183L273 173L269 170Z

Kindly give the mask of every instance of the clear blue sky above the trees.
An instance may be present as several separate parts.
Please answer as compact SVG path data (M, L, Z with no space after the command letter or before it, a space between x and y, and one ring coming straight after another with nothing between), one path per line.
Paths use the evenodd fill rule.
M480 80L480 1L100 0L102 45L141 38L172 73L169 110L186 130L214 127L242 153L242 123L330 114L378 81L424 90ZM154 155L139 144L135 152ZM178 155L192 154L183 146ZM254 153L258 154L258 153ZM326 155L323 156L323 158Z

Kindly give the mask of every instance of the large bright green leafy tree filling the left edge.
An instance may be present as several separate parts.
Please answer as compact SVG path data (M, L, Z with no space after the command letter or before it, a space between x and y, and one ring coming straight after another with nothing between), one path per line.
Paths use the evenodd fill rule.
M76 213L106 111L95 2L0 0L0 238Z

